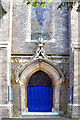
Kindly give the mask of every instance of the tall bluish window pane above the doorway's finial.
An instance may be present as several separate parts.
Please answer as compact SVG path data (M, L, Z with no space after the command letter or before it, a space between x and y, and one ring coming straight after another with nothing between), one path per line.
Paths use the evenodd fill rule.
M31 40L38 40L39 37L44 40L50 40L50 4L46 9L31 8Z

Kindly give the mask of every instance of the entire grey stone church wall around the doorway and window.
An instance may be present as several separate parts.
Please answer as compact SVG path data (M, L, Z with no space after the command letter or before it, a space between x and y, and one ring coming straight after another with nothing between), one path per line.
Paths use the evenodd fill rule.
M10 1L7 0L5 2L5 0L2 0L2 5L4 9L7 10L7 14L0 20L0 117L9 117L11 114L11 108L8 104L8 82L10 82L8 69L10 59L7 59L9 53L9 44L7 41L10 40ZM66 111L68 87L73 85L73 104L69 103L69 110L73 117L78 117L80 116L80 40L78 36L78 17L80 14L76 12L77 4L74 6L71 14L68 14L65 8L57 10L58 5L59 2L54 2L50 5L48 29L46 28L47 23L45 21L43 22L43 26L45 26L44 28L48 32L47 36L47 32L45 33L45 30L43 30L46 36L43 38L48 40L44 45L44 50L49 60L60 67L65 77L65 83L60 86L60 95L58 96L60 97L59 109ZM15 83L15 71L19 65L28 62L35 54L37 44L35 43L36 41L33 42L33 40L38 40L39 35L44 35L42 35L43 32L41 34L37 32L37 27L38 31L41 31L41 27L38 26L37 21L33 21L33 18L34 20L36 19L36 15L33 14L33 18L31 19L31 8L26 6L22 0L13 1L12 12L12 103L13 114L19 115L21 111L21 94L20 85ZM45 14L47 14L47 12ZM46 17L46 15L44 16ZM34 27L34 23L37 25L36 27ZM49 40L53 39L54 42L49 43ZM6 44L6 46L4 44ZM66 59L66 57L68 57L68 59Z

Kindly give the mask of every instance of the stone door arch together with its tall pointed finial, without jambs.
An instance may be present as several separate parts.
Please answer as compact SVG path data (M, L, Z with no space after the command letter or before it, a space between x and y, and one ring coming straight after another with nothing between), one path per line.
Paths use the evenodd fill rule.
M16 82L20 84L27 84L30 76L42 70L47 73L53 85L62 84L64 82L64 75L57 65L53 64L45 54L43 49L43 40L40 39L38 49L35 56L27 63L22 63L16 71Z

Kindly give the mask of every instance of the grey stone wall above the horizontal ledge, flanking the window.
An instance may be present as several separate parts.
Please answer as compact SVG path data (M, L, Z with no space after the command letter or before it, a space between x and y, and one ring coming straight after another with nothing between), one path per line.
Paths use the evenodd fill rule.
M66 9L57 10L57 7L60 3L54 2L50 5L50 10L47 13L50 13L50 31L47 33L50 34L50 39L55 39L54 42L44 45L45 52L47 54L69 54L69 40L68 40L68 13ZM36 13L33 14L32 19L35 21L29 20L30 14L28 14L27 6L21 1L14 1L13 4L13 36L12 36L12 54L34 54L37 48L37 45L33 42L29 42L30 35L32 33L33 38L37 39L35 34L39 33L39 30L43 30L43 27L47 29L45 21L43 22L43 27L39 27L38 31L36 30L38 22L35 20ZM64 14L64 15L63 15ZM37 18L36 18L37 19ZM32 28L30 24L34 24L35 27ZM28 26L29 25L29 26ZM28 31L29 29L29 31ZM45 30L44 29L44 30ZM49 29L48 29L49 30ZM43 34L45 31L43 31ZM42 34L42 33L41 33ZM28 38L29 36L29 38ZM38 35L40 36L40 35ZM46 35L45 35L46 36ZM48 39L47 36L44 39ZM34 41L36 42L36 41Z

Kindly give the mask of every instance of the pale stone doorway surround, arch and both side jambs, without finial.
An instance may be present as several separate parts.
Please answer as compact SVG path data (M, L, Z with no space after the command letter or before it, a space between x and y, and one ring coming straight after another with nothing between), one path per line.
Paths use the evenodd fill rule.
M17 74L16 82L19 82L21 86L21 110L23 111L27 108L26 88L29 78L39 70L45 72L51 78L52 85L54 86L53 107L55 110L59 110L60 84L64 82L64 76L56 65L45 59L36 59L25 64Z

